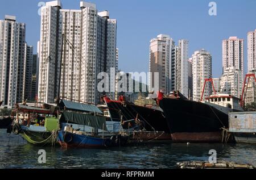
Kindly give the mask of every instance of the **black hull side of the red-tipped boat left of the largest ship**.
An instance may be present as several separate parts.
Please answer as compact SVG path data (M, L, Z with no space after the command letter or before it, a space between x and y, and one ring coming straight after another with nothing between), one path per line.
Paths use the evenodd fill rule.
M146 131L164 131L166 133L170 133L168 123L166 118L163 116L162 111L137 106L131 103L123 105L118 102L108 102L107 105L109 107L110 116L114 121L119 122L121 115L122 119L125 121L136 119L138 115L138 119L143 122L143 127Z

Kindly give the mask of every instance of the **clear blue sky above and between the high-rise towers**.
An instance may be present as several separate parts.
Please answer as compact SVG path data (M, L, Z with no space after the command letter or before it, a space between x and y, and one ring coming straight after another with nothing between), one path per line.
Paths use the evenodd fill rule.
M211 0L213 1L213 0ZM189 40L189 56L200 48L212 54L213 77L221 75L222 39L237 36L245 40L247 70L247 32L256 28L256 1L214 1L217 16L209 16L207 0L95 0L97 9L110 11L117 19L119 69L125 72L148 72L149 41L158 34L168 34L176 42ZM27 24L27 42L40 39L38 3L46 1L11 0L0 2L0 19L15 15ZM62 0L64 9L79 9L79 0Z

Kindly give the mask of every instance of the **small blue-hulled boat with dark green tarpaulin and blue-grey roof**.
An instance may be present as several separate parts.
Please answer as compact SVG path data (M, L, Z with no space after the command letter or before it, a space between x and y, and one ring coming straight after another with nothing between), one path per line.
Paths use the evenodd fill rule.
M109 131L106 117L97 106L61 101L60 111L58 141L63 148L106 148L127 143L128 136Z

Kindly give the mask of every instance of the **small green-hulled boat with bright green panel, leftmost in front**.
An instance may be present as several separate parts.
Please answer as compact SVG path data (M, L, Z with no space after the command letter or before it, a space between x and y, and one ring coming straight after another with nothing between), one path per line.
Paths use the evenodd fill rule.
M51 110L17 104L15 111L16 118L9 132L22 136L24 140L34 145L56 143L59 120Z

